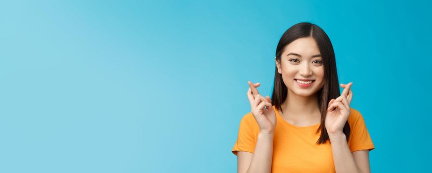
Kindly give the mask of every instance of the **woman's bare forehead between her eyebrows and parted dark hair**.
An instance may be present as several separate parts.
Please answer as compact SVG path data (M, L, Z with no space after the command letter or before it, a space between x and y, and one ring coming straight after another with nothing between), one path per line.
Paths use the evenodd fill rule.
M285 46L283 56L286 56L288 53L291 52L305 56L320 54L318 44L311 37L300 38L295 40L294 42L289 43L287 46Z

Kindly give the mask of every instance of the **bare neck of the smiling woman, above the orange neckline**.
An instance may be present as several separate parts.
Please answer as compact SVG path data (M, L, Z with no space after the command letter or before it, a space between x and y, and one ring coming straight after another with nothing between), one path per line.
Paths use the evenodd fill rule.
M318 95L304 97L288 89L287 98L281 104L282 114L285 118L294 120L312 120L321 118L318 105Z

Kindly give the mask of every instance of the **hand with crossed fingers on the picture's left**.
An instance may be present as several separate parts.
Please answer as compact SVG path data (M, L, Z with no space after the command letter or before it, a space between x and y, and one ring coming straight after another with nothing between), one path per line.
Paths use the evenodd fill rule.
M249 103L251 103L251 112L259 125L259 132L274 133L276 129L276 114L273 110L273 105L271 105L270 97L267 95L264 98L259 95L257 87L259 87L260 83L252 84L252 82L248 81L248 84L249 90L247 95Z

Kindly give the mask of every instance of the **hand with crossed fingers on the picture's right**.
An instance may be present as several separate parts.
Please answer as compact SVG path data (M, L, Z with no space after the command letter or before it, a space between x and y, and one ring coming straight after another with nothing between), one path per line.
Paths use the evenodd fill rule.
M341 96L336 99L333 98L329 102L325 120L325 127L329 136L343 134L342 130L351 113L349 109L352 99L351 86L352 82L347 85L341 84L341 87L344 87Z

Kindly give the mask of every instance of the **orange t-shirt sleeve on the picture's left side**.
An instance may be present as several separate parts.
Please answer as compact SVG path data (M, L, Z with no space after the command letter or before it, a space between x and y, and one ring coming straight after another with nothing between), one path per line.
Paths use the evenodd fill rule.
M251 153L255 151L256 139L251 124L248 121L248 114L243 116L240 121L237 141L232 148L232 153L235 155L237 155L237 151L247 151Z

